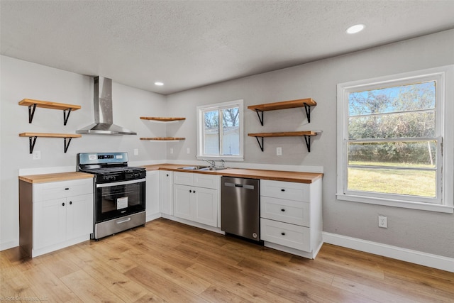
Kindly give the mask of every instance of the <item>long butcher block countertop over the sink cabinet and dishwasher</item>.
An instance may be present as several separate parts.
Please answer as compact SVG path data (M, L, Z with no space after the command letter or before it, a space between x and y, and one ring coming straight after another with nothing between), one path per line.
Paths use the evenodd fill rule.
M226 168L225 170L182 170L182 164L143 165L146 170L172 170L175 172L195 172L199 174L222 175L227 177L253 178L310 184L323 177L320 172L288 172L281 170L252 170L245 168Z

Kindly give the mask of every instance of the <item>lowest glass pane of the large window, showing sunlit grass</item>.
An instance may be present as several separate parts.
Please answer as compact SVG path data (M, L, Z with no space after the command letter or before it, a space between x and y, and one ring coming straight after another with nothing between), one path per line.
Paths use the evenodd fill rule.
M435 198L436 172L349 167L348 190Z

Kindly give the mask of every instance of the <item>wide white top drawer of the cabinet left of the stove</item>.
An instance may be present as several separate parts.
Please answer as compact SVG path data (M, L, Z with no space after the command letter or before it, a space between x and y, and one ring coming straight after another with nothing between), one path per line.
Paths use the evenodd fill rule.
M33 184L33 202L93 194L93 179Z

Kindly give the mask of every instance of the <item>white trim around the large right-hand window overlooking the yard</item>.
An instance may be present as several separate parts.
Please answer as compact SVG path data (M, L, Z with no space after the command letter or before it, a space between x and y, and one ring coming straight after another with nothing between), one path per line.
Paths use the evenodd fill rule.
M371 194L363 192L355 192L355 194L347 193L345 191L347 167L345 166L347 150L345 145L345 135L348 133L347 110L348 103L345 102L348 90L355 87L367 87L366 89L373 89L373 87L383 87L384 84L392 82L399 85L399 82L405 83L411 79L421 80L424 77L431 79L438 77L438 85L436 87L436 94L441 94L441 110L437 109L438 114L442 117L437 117L437 125L439 134L443 134L443 172L441 172L441 204L425 203L421 201L404 201L397 199L387 199L384 197L372 197ZM353 82L345 82L337 86L337 111L338 111L338 128L337 128L337 199L361 202L367 204L377 204L385 206L396 206L406 209L421 209L425 211L438 211L453 214L454 210L454 65L447 65L443 67L435 67L427 70L419 70L415 72L406 72L399 75L391 75L385 77L377 77L373 79L364 79ZM445 117L445 119L443 119ZM441 118L441 119L440 119ZM437 135L438 136L438 135ZM441 144L439 144L440 148ZM440 152L440 151L439 151ZM441 170L440 170L441 171ZM437 188L438 191L439 187ZM415 199L416 200L416 199Z

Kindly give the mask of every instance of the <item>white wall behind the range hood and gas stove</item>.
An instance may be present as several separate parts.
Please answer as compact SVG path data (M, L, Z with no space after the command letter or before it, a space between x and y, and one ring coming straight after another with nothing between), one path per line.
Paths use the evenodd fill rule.
M114 82L114 123L137 132L138 136L83 135L72 139L67 153L63 150L63 138L37 138L35 150L41 152L41 159L33 160L28 138L18 134L75 133L93 123L93 79L11 57L1 56L0 60L0 249L18 246L18 170L67 167L74 171L77 153L90 151L126 151L130 161L139 162L165 159L162 145L139 140L140 136L165 133L162 126L152 127L148 121L139 119L140 116L165 116L165 96ZM63 126L62 111L37 108L29 124L28 106L18 106L18 101L25 98L78 104L82 109L73 111L67 125ZM138 156L133 155L135 148L139 150Z

